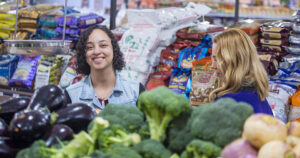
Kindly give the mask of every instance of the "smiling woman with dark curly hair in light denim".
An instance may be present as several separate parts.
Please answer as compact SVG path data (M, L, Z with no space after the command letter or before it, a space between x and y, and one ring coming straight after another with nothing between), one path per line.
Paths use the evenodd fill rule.
M87 77L66 90L69 102L83 102L100 111L105 104L136 105L144 86L120 76L123 54L112 32L105 26L91 26L76 45L78 73Z

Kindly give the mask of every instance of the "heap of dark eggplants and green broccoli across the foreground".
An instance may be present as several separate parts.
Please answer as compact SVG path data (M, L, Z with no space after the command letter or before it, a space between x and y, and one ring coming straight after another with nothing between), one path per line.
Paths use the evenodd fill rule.
M62 100L61 89L49 85L36 90L25 107L16 99L3 103L21 102L22 108L9 127L0 120L0 157L216 158L242 136L253 113L228 98L192 108L167 87L142 93L138 106L109 104L98 115L86 104Z

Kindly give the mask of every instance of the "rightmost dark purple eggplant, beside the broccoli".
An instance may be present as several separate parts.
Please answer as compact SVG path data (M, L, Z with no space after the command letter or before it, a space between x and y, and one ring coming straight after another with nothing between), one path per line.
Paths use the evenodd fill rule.
M71 104L56 113L58 117L55 123L68 125L75 133L86 130L88 124L96 116L93 108L84 103Z

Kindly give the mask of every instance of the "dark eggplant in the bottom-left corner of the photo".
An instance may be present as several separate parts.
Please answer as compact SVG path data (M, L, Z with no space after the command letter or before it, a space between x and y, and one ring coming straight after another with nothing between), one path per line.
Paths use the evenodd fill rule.
M21 150L9 144L11 139L9 137L0 137L0 157L15 158L17 153Z

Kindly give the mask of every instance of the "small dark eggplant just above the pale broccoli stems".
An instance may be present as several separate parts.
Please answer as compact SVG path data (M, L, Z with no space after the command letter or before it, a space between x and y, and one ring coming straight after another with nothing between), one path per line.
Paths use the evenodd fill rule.
M46 146L50 147L52 145L59 144L57 139L59 139L60 141L73 139L73 134L74 132L69 126L56 124L50 131L45 134L43 140L46 142Z

